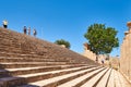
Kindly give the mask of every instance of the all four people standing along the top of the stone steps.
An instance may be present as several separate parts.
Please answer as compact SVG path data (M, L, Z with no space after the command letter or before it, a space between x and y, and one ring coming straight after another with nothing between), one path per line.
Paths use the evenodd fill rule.
M3 28L8 28L8 21L4 20L4 21L2 22L2 25L3 25ZM26 34L26 35L31 35L31 27L27 28L26 26L24 26L23 32L24 32L24 34ZM34 36L37 35L36 29L33 29L33 35L34 35Z

